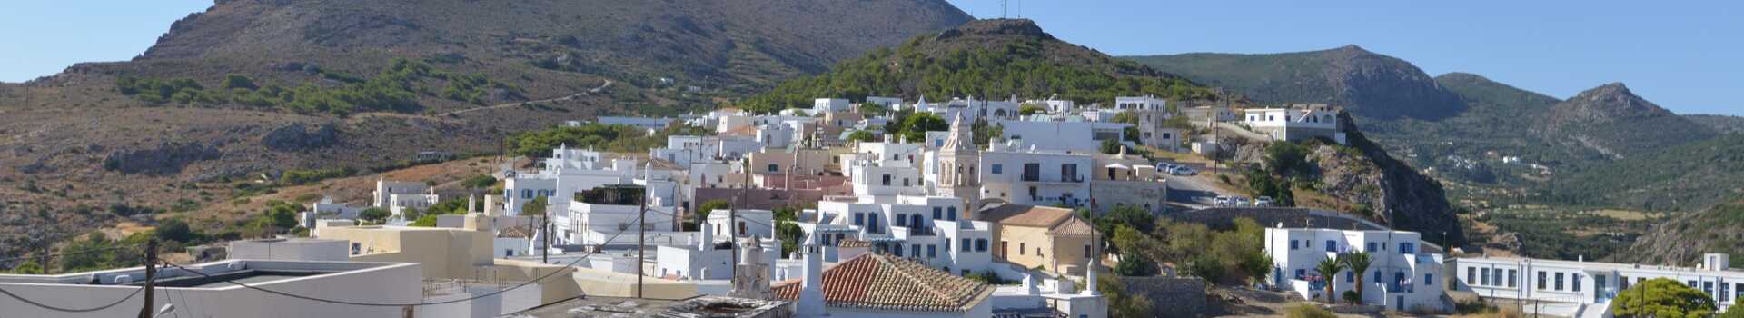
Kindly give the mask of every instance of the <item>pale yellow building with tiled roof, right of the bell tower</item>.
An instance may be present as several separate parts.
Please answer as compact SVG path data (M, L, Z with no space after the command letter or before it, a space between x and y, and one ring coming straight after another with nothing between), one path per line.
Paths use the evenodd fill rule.
M1024 267L1083 274L1092 255L1095 225L1067 208L1001 204L980 211L994 224L994 257Z

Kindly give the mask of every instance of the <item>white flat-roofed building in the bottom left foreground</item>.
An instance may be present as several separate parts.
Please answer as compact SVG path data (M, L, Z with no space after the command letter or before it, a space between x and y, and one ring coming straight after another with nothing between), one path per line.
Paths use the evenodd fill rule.
M185 269L183 269L185 267ZM424 302L422 266L405 262L307 262L307 260L221 260L180 267L159 267L155 273L152 313L173 306L162 316L403 316L398 306L351 306L276 294L208 280L220 276L265 290L319 299L337 299L363 304L415 304ZM0 290L14 297L0 297L5 316L136 316L145 308L140 285L145 267L66 273L66 274L0 274ZM61 309L103 309L66 313L26 304L19 299ZM415 316L434 315L431 308L413 309Z

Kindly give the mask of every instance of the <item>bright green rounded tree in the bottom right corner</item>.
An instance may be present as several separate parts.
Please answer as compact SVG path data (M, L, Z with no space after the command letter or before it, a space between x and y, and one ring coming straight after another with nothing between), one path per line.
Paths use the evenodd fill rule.
M1636 283L1611 299L1611 313L1618 318L1704 318L1714 311L1714 297L1669 278ZM1737 309L1727 315L1734 315L1732 311Z

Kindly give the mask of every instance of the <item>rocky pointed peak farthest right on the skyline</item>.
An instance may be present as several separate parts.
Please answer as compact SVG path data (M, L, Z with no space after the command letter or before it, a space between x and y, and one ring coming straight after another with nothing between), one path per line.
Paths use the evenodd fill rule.
M1620 82L1587 89L1552 105L1540 124L1549 140L1613 157L1646 154L1716 135L1707 126L1636 96Z

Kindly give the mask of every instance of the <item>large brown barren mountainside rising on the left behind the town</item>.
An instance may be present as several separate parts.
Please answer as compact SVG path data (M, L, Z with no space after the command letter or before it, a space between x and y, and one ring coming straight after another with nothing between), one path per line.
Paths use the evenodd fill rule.
M218 0L131 61L0 84L0 255L246 203L288 171L712 108L970 19L944 0Z

